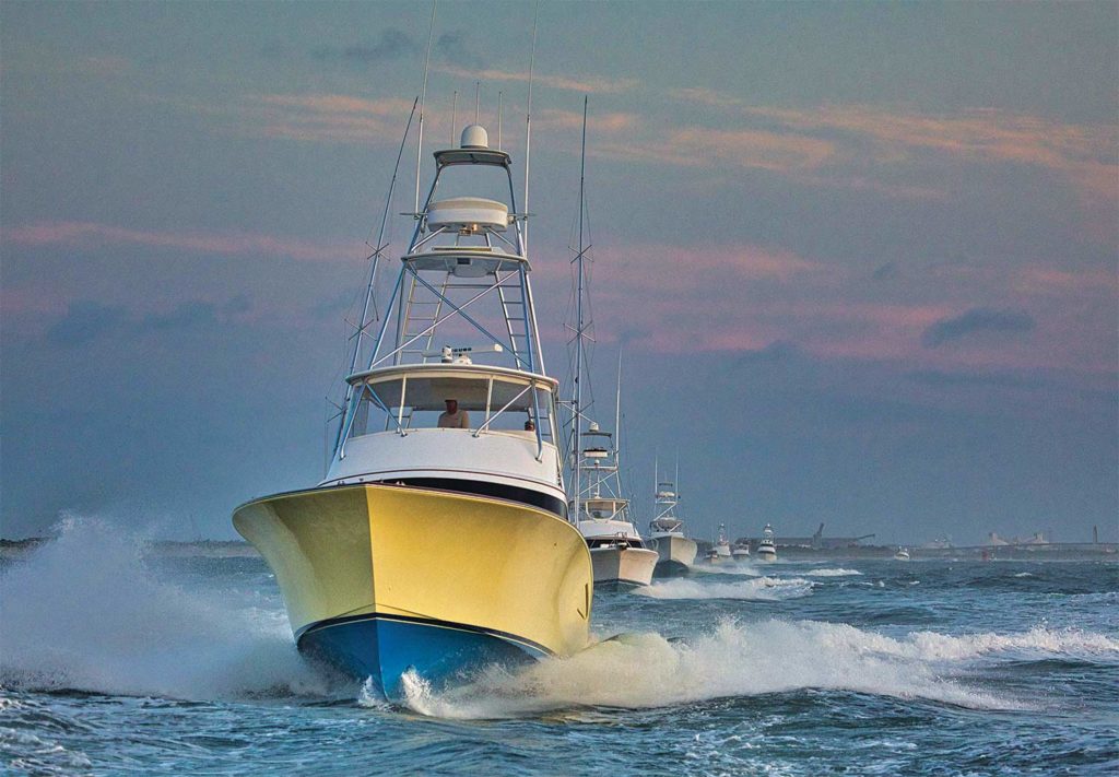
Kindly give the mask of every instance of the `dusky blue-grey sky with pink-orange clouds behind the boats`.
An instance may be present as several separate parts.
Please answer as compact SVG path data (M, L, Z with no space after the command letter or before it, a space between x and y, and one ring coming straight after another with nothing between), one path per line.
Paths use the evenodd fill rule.
M438 6L425 156L478 83L524 169L534 8ZM232 539L321 478L431 10L0 3L3 536ZM1119 4L545 0L537 29L545 357L566 378L586 96L595 401L621 349L640 523L656 460L700 537L1119 539Z

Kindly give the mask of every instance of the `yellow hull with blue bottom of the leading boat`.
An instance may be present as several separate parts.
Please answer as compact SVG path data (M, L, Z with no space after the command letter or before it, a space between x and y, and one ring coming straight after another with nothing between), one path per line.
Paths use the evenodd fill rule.
M388 696L410 668L441 682L587 644L591 558L552 513L361 484L250 502L233 523L275 573L300 649Z

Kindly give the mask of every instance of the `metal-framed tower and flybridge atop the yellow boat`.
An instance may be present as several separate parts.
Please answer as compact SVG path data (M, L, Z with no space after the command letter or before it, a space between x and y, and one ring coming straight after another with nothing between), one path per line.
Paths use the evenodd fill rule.
M435 151L434 158L423 206L404 214L415 219L415 230L384 316L375 303L379 251L373 258L336 461L346 457L347 439L378 429L405 438L435 425L425 414L438 414L444 400L455 400L470 415L473 437L516 432L535 441L538 462L551 461L545 447L554 448L557 436L556 384L544 372L525 216L517 214L509 155L490 149L486 130L471 124L459 148ZM490 174L471 168L497 168L506 202L488 190L495 184ZM443 345L449 343L463 345ZM491 358L474 365L471 356L478 354ZM558 472L548 477L560 479Z

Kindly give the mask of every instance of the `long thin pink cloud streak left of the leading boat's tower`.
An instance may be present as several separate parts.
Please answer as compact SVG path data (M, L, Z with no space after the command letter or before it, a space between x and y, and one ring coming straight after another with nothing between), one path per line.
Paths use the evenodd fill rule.
M271 254L308 261L333 261L359 253L356 245L321 245L271 235L151 232L91 222L39 222L4 230L2 240L16 245L125 243L213 254Z

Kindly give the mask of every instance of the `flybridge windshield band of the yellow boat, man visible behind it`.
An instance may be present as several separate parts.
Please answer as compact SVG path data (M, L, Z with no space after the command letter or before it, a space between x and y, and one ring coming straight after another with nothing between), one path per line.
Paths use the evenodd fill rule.
M394 373L358 384L349 437L407 433L441 425L474 432L518 432L554 442L554 395L543 381L514 375ZM449 415L453 401L455 413ZM442 422L441 422L442 418Z

